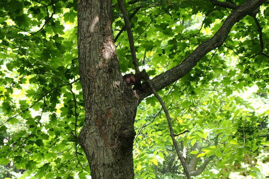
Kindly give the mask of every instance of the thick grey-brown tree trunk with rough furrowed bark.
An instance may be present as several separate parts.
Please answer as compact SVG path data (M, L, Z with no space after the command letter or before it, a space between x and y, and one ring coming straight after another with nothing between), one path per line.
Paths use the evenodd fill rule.
M85 102L80 144L92 179L134 179L132 151L138 100L120 72L111 3L78 1L78 55Z

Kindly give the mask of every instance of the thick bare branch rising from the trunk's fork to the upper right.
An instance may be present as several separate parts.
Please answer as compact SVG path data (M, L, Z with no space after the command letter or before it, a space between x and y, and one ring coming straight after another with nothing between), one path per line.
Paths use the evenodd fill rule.
M181 64L153 78L151 83L154 88L158 91L184 77L208 52L220 47L224 43L231 28L236 22L257 9L264 2L265 0L247 0L244 4L239 6L227 17L216 34L200 44ZM146 84L142 84L142 87L144 90L147 89ZM152 91L150 89L141 93L139 96L140 100L151 93Z

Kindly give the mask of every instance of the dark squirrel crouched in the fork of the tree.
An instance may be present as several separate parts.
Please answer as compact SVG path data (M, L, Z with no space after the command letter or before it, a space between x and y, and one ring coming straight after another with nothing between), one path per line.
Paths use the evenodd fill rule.
M141 86L141 80L149 79L145 69L138 74L126 74L124 75L124 81L128 86L134 85L133 89L143 90Z

